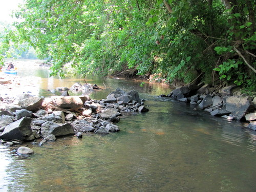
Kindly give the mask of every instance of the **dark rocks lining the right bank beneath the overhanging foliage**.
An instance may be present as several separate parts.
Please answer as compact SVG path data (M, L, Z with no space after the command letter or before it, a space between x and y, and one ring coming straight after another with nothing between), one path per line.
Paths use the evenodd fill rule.
M218 90L211 88L209 84L189 85L175 89L167 96L159 97L170 97L189 103L195 110L204 110L212 116L248 122L247 127L256 131L256 97L233 92L234 88L236 86Z

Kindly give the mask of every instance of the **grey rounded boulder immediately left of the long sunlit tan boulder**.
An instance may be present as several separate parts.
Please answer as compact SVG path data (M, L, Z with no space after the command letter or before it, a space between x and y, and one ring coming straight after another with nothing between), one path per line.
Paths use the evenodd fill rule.
M18 104L26 110L36 112L42 105L42 101L43 99L41 97L33 97L25 94L20 97Z

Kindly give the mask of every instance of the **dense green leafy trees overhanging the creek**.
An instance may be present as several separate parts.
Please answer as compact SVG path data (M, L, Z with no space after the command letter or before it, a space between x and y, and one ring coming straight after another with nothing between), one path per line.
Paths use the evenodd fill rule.
M254 0L27 0L1 47L26 41L62 76L70 63L79 74L255 91L255 9Z

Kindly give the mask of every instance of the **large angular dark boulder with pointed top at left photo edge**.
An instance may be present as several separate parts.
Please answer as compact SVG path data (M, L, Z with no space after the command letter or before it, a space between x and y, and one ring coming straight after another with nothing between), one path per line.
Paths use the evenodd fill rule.
M31 141L35 139L30 123L31 118L23 117L5 127L4 132L0 135L1 139L4 140L22 140Z

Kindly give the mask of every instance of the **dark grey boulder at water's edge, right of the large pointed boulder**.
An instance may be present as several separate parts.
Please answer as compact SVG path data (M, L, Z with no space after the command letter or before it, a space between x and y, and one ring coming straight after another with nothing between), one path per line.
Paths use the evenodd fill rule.
M41 126L42 137L47 137L48 135L65 136L74 134L74 127L70 123L59 124L52 121L46 121Z

